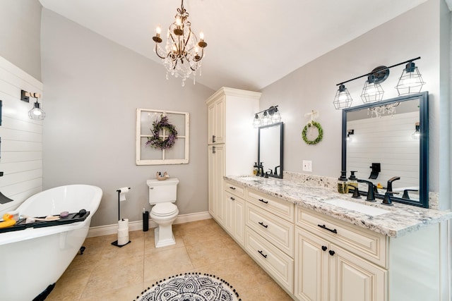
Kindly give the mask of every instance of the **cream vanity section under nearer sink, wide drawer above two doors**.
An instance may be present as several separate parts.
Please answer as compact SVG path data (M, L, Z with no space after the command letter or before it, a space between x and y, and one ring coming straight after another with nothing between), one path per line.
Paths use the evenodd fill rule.
M387 300L386 237L297 208L299 300Z

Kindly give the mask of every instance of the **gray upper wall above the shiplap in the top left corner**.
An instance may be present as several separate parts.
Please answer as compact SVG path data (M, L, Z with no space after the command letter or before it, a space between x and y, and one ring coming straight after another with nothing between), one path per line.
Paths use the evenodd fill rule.
M0 0L0 56L41 80L41 4Z

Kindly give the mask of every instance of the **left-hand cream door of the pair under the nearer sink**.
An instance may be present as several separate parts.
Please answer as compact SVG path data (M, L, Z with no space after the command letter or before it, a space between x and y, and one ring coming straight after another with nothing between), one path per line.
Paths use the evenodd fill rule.
M295 228L295 296L299 300L326 301L328 296L329 243Z

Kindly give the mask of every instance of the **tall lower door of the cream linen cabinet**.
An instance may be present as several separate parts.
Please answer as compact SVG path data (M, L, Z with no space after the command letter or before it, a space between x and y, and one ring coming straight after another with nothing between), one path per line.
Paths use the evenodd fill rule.
M223 176L225 173L224 145L209 145L208 147L208 207L210 215L223 224Z

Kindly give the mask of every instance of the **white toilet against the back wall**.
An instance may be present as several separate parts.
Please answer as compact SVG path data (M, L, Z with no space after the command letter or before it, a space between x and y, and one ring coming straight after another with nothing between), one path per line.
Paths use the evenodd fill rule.
M173 204L177 198L177 178L167 180L148 180L149 204L153 205L150 211L150 219L157 223L154 229L155 247L165 247L174 245L174 235L172 233L172 222L177 218L179 209Z

